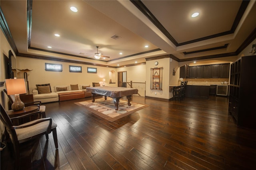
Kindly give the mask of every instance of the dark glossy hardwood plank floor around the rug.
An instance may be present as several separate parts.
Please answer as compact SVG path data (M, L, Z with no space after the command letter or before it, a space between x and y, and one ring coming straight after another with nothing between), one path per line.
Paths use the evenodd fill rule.
M161 101L114 122L96 117L70 100L46 105L57 123L59 148L49 141L22 145L22 170L246 170L256 168L256 130L237 127L228 98ZM90 100L90 98L86 98ZM9 146L9 147L8 147ZM1 151L1 170L13 169L10 144Z

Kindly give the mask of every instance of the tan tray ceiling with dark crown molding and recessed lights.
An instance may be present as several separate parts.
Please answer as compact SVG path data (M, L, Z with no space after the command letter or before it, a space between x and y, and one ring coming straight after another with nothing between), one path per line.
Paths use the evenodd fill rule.
M108 66L144 63L145 58L166 54L178 61L234 55L256 28L254 0L240 20L236 17L241 0L139 1L137 5L145 10L140 2L148 16L128 0L33 0L28 16L26 0L1 0L0 5L21 56ZM78 12L72 12L71 6ZM200 15L191 18L193 12ZM30 17L31 27L27 26ZM113 35L120 38L112 39ZM96 46L110 58L88 58L97 52Z

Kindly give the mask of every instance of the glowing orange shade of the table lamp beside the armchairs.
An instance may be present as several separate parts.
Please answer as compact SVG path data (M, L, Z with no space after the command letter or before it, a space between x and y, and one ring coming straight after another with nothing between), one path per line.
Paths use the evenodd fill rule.
M24 78L6 79L5 84L8 95L24 94L27 92Z

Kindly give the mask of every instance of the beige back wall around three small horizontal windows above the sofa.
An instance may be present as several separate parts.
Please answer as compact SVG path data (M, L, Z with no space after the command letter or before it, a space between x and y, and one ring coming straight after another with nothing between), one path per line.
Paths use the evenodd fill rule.
M114 70L114 73L116 72L113 68L26 57L16 57L16 59L18 69L28 68L32 70L28 72L29 90L36 88L36 84L47 83L50 83L52 88L56 85L69 84L90 84L90 86L92 86L92 82L100 82L100 84L103 84L103 78L106 79L105 85L108 86L110 76L115 79L115 75L110 74L110 70ZM45 71L45 63L62 64L62 72ZM69 72L69 65L82 66L82 73ZM87 67L97 68L97 73L87 73ZM23 72L18 72L17 77L24 78Z

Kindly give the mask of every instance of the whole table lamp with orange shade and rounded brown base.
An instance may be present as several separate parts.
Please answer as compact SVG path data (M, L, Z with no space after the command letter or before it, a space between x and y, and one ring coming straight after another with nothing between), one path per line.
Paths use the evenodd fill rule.
M20 94L24 94L27 92L24 78L6 79L5 84L6 84L7 94L15 96L15 100L12 104L12 109L14 111L19 111L24 109L25 105L20 100Z

